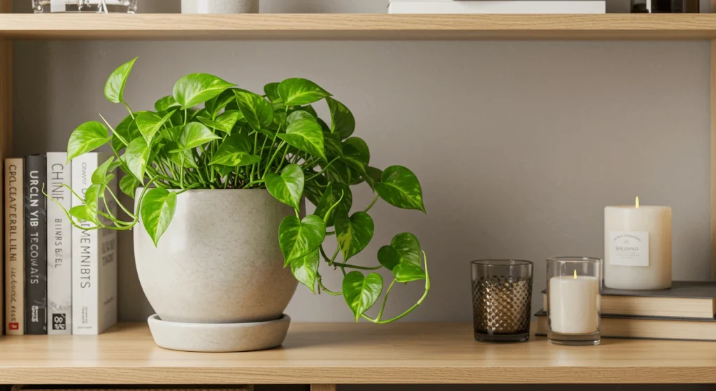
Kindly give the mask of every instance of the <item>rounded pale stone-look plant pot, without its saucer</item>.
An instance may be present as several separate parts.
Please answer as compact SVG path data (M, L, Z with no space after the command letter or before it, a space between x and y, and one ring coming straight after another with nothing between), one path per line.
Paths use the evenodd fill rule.
M141 190L137 190L139 193ZM189 190L155 247L134 230L137 273L162 321L280 319L298 284L284 269L279 225L293 214L267 190Z

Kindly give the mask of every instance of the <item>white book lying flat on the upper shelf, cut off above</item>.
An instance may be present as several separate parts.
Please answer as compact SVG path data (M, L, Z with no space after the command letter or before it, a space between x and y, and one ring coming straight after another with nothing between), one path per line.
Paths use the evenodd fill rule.
M606 0L390 0L388 14L606 14Z

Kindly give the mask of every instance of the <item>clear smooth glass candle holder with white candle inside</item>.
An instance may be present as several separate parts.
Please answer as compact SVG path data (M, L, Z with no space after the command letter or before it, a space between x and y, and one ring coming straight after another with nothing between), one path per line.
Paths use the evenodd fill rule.
M598 345L601 340L601 259L547 260L547 338L553 344Z

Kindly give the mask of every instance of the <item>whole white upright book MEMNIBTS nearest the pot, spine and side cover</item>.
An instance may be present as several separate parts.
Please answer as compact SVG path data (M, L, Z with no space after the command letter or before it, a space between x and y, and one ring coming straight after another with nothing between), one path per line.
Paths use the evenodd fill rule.
M110 155L85 153L72 160L72 188L84 195L92 173ZM115 182L112 190L115 191ZM111 196L107 195L110 201ZM108 202L109 203L109 202ZM77 198L72 206L82 205ZM100 206L104 202L100 201ZM113 203L110 208L115 209ZM115 213L112 210L112 213ZM82 226L93 223L80 222ZM117 233L72 228L72 334L96 335L117 322Z

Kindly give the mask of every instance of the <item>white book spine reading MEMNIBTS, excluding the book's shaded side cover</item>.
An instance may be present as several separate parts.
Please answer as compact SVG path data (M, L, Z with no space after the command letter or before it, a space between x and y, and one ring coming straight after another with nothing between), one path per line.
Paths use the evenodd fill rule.
M85 153L72 160L72 189L80 196L92 185L97 169L97 153ZM83 203L72 198L72 206ZM82 227L95 226L79 221ZM98 334L98 241L99 231L83 231L72 227L72 334Z

